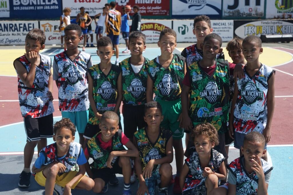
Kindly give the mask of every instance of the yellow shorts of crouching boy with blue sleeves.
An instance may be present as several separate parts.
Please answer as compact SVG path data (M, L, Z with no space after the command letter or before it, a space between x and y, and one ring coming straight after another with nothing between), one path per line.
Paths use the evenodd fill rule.
M62 175L57 175L55 182L59 186L65 187L65 185L68 182L70 182L71 179L74 178L77 173L78 173L77 171L69 171L67 173L63 173ZM71 187L71 189L74 189L83 177L86 177L86 176L85 175L82 176L75 184L73 184L73 186ZM43 171L40 171L40 172L37 172L36 173L35 180L41 186L45 186L45 184L46 184L46 177L43 175Z

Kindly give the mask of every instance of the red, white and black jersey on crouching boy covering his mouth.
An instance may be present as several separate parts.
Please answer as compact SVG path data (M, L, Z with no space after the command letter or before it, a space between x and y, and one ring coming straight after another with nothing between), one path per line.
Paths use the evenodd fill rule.
M229 174L233 174L236 177L236 194L237 195L256 195L258 189L258 177L255 172L252 175L249 175L243 164L244 156L236 158L232 161L228 167ZM273 167L263 159L261 164L263 167L263 172L265 175L270 172Z

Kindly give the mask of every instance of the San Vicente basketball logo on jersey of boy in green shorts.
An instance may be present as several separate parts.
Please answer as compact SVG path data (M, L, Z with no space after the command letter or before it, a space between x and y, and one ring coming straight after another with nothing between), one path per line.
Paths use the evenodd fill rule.
M168 96L171 90L176 90L179 88L179 84L174 83L171 74L166 73L164 74L162 81L159 82L156 87L163 96Z

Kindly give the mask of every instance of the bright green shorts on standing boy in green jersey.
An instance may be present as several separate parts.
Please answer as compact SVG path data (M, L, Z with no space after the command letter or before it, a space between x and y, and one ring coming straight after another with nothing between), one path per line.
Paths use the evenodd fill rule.
M181 114L181 99L174 101L165 101L156 98L157 102L161 104L164 119L161 122L161 126L170 129L173 133L173 139L178 140L182 139L184 135L183 128L179 127L178 117Z

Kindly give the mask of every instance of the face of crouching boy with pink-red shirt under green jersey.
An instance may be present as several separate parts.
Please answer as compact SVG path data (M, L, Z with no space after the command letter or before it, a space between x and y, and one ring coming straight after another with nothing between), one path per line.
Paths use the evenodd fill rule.
M102 140L104 142L111 140L119 129L118 122L113 119L102 120L99 124L99 127L101 129Z

